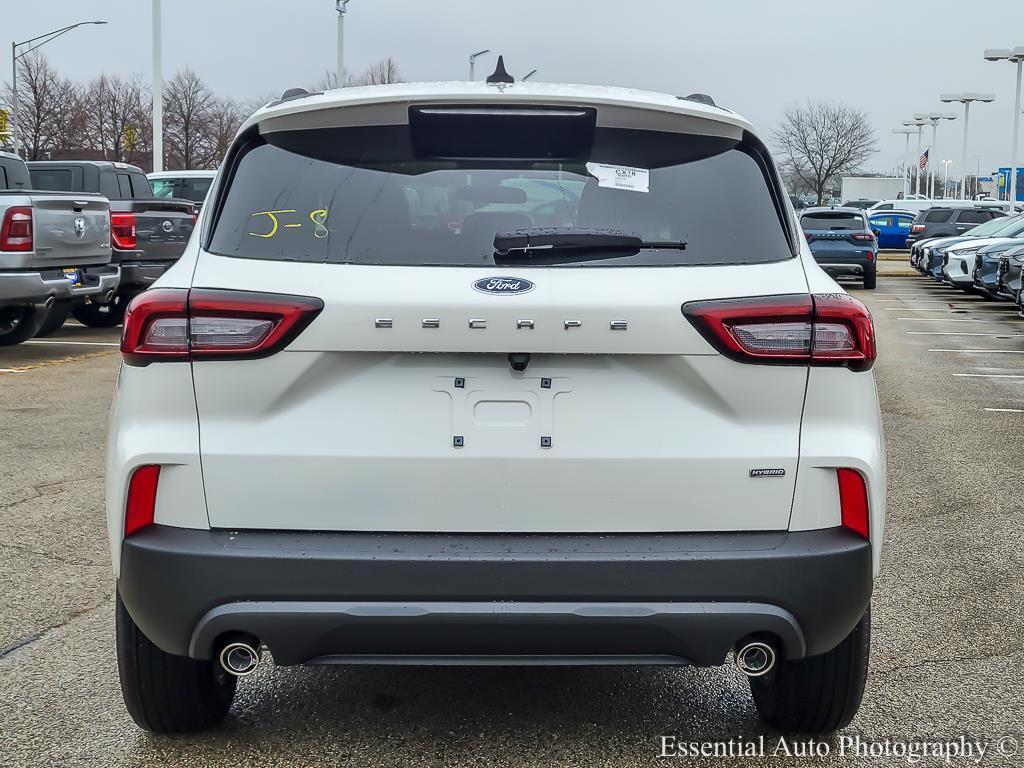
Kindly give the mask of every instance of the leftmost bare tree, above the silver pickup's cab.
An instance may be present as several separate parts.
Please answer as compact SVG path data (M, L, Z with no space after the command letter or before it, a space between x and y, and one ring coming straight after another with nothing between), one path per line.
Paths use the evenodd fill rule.
M10 101L10 86L6 88ZM18 59L18 140L28 160L58 157L81 145L85 128L79 88L60 77L46 57Z

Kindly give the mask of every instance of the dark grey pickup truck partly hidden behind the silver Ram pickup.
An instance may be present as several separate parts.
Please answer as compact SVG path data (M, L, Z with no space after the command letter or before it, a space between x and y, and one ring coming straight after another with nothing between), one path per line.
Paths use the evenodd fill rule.
M121 287L106 304L87 302L75 307L75 318L86 326L121 324L125 306L178 260L196 223L189 200L156 198L141 168L127 163L52 160L29 163L38 189L93 191L111 201L111 243L114 262L121 266Z

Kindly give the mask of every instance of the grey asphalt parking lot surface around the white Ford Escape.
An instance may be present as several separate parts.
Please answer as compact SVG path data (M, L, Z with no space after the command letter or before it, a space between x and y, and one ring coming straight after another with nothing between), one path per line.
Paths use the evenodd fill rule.
M967 735L993 744L981 764L1019 766L1024 319L925 278L851 288L879 333L889 507L870 676L849 733ZM731 668L266 665L216 732L145 735L123 709L114 658L102 496L117 370L116 330L70 324L0 350L0 765L632 766L666 762L662 735L766 732ZM1016 756L994 745L1008 735Z

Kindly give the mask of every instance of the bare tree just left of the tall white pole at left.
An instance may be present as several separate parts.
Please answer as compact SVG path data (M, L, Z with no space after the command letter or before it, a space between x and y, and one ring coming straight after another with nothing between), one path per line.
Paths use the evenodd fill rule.
M132 162L142 121L147 120L148 97L139 77L100 75L89 84L83 102L88 104L86 145L104 160Z

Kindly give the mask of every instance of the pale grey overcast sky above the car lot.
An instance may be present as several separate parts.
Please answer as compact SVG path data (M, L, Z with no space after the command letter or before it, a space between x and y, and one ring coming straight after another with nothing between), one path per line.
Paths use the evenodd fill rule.
M43 50L63 74L139 74L152 67L152 0L0 0L0 37L25 40L84 27ZM982 12L982 7L984 11ZM239 100L312 86L336 60L334 0L163 0L164 74L191 67ZM1015 37L1016 35L1016 37ZM908 40L922 45L912 49ZM1024 46L1021 0L350 0L345 68L391 56L403 80L463 80L469 53L503 53L509 71L546 82L623 85L711 94L767 134L790 103L837 99L863 110L879 136L872 170L903 157L892 129L921 112L953 112L939 126L934 161L961 166L963 106L939 94L979 91L968 168L1010 163L1014 66L985 48ZM922 48L927 48L922 52ZM6 50L6 48L5 48ZM0 78L9 80L0 57ZM494 68L477 60L477 77ZM930 143L931 127L925 129ZM916 135L911 136L914 153ZM938 166L941 168L941 165Z

